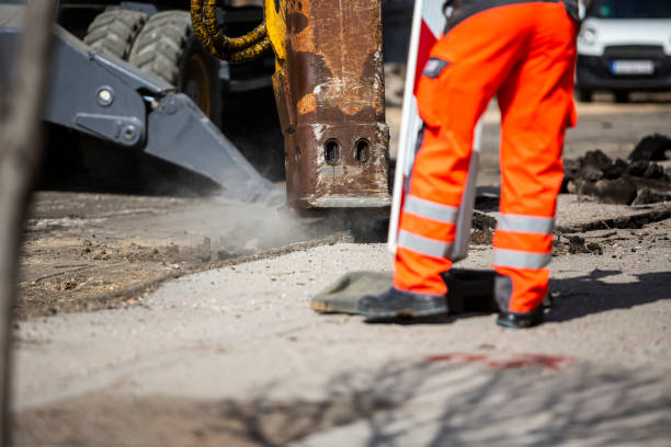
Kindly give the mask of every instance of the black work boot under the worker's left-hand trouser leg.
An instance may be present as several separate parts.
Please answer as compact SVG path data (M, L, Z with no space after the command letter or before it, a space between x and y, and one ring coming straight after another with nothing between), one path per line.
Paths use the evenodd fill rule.
M444 296L413 294L394 287L379 295L363 297L356 305L360 314L368 318L430 317L447 313Z

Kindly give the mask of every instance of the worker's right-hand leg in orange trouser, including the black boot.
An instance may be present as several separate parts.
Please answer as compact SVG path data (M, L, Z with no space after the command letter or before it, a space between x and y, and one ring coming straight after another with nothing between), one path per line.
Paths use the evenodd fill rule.
M496 230L499 322L539 322L548 290L566 126L573 116L576 23L561 4L536 3L528 55L499 91L501 203ZM526 321L526 323L524 322Z

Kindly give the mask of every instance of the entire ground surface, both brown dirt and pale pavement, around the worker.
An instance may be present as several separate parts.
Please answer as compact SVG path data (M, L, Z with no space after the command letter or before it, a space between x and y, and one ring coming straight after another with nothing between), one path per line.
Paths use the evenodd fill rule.
M671 134L664 98L604 100L579 107L567 157L625 157ZM481 186L499 182L497 119L492 107ZM43 192L21 261L16 443L669 445L671 206L565 195L558 226L544 325L374 324L308 307L344 271L390 268L384 244L348 242L346 226L212 198ZM473 245L463 266L491 254Z

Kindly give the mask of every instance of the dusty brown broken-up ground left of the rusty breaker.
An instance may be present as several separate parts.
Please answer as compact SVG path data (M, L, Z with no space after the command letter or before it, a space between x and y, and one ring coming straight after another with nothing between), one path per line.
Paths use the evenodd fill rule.
M338 234L339 222L319 221L217 198L42 192L26 226L16 313L136 306L162 280Z

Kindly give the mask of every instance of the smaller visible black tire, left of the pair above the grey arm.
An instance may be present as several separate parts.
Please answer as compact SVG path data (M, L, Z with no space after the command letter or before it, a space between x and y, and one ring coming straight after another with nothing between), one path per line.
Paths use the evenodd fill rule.
M139 11L105 11L91 22L83 42L103 55L125 60L148 19L149 15Z

